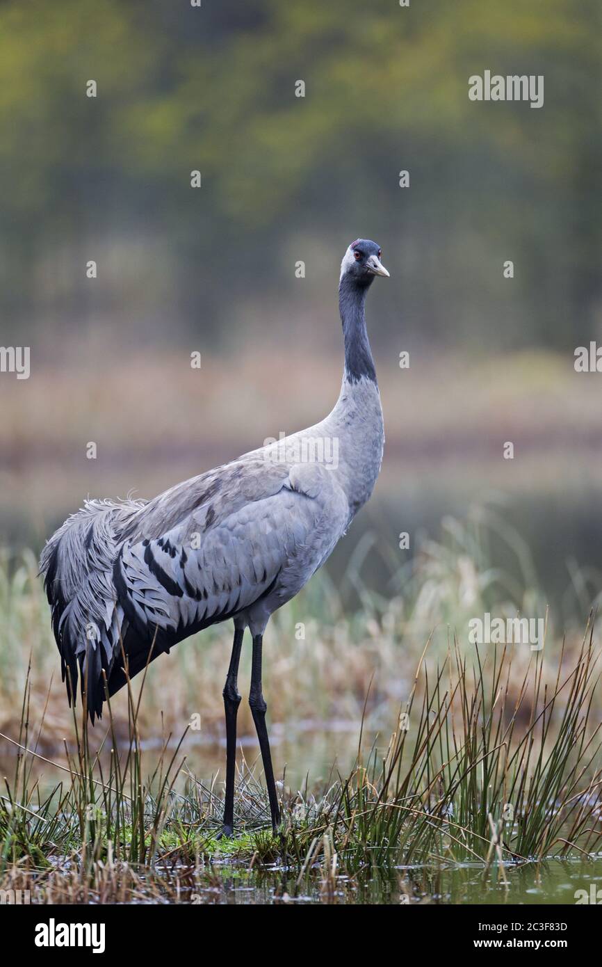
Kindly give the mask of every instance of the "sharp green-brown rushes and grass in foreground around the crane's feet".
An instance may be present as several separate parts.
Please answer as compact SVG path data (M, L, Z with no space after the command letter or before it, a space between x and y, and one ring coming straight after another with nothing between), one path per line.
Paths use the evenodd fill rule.
M144 681L128 688L127 746L116 741L110 703L96 748L79 709L65 778L43 790L32 766L44 722L32 730L28 683L16 734L4 737L18 754L0 799L2 887L33 889L41 902L213 902L226 866L230 875L253 870L259 883L286 870L288 894L313 890L333 902L350 877L400 864L476 862L503 883L517 863L593 857L602 837L600 724L589 720L598 659L590 618L574 659L560 651L549 672L535 653L510 698L512 649L476 652L469 665L454 641L431 664L427 645L385 755L364 748L360 730L349 775L333 771L321 790L289 789L283 777L275 834L260 777L243 759L231 839L217 838L221 788L190 773L184 735L173 747L164 733L146 774Z

